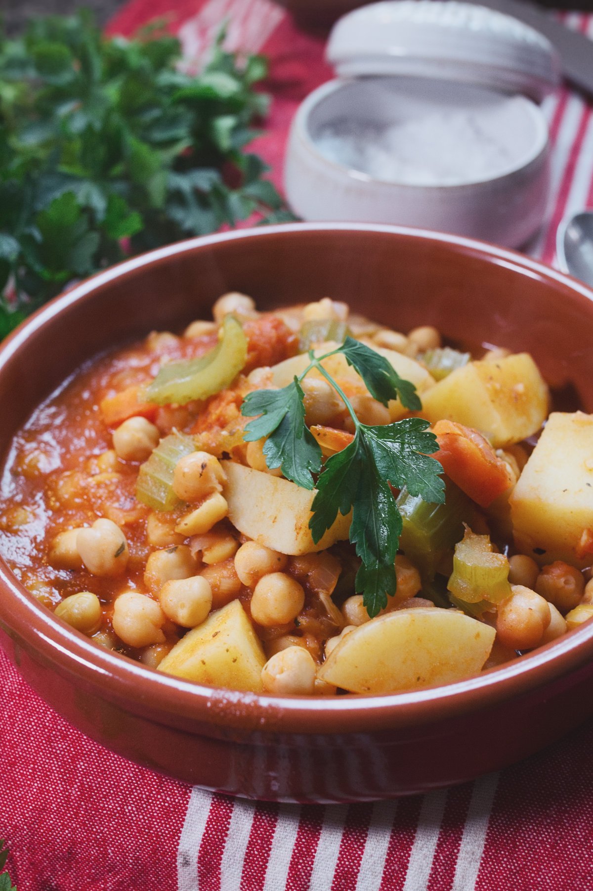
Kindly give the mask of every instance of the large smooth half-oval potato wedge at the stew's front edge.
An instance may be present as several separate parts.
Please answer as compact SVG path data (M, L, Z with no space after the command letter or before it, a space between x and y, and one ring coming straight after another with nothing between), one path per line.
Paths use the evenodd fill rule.
M453 609L398 609L345 634L318 672L353 693L394 693L476 674L495 631Z

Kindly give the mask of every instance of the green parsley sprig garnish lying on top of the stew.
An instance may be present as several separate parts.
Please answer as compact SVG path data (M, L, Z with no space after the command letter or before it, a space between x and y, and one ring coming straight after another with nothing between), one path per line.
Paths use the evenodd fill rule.
M324 359L338 353L345 356L378 402L387 405L399 396L410 411L421 409L410 380L402 380L375 350L348 337L341 347L323 356L315 356L310 350L310 364L288 387L249 393L241 413L255 420L249 421L244 438L252 442L267 437L264 455L271 470L280 467L286 478L306 489L316 485L309 522L315 543L321 541L338 511L346 515L352 510L350 541L361 558L355 587L363 594L364 605L372 617L386 607L387 595L393 595L396 588L394 560L402 517L391 486L406 486L410 495L443 503L443 469L429 457L438 450L438 444L435 435L427 430L428 421L405 418L383 426L359 421L344 391L322 365ZM352 443L332 455L323 468L321 448L305 425L305 394L301 387L301 381L313 368L344 401L354 425ZM313 474L317 473L320 476L315 484Z

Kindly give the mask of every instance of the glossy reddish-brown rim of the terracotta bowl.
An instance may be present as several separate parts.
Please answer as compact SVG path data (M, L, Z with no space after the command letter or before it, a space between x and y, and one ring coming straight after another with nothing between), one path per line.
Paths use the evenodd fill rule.
M56 315L118 278L133 275L146 266L209 249L226 241L263 239L291 233L382 233L406 239L439 242L461 253L490 259L542 280L564 285L583 301L593 304L593 290L568 275L557 272L518 252L460 235L435 233L407 226L348 223L289 223L245 228L180 241L133 257L95 274L62 293L20 324L0 346L0 373L12 356L26 348L29 336ZM583 304L584 305L584 304ZM591 306L593 313L593 306ZM492 668L477 677L419 691L378 696L345 695L333 698L272 697L223 690L160 674L133 659L102 650L40 604L20 584L0 557L0 628L12 638L15 650L20 641L36 650L43 663L53 664L61 674L77 674L100 696L123 705L138 715L157 715L160 723L175 723L191 732L214 727L267 733L326 734L404 729L464 715L510 699L574 671L593 658L593 623L565 634L507 666ZM18 656L18 653L17 653ZM18 658L13 661L18 662ZM139 692L139 687L142 691Z

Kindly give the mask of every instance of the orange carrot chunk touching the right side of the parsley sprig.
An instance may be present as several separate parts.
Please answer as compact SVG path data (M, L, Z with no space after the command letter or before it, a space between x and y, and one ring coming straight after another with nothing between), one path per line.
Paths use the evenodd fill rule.
M515 478L481 433L455 421L436 421L439 451L433 455L459 488L480 507L488 507Z

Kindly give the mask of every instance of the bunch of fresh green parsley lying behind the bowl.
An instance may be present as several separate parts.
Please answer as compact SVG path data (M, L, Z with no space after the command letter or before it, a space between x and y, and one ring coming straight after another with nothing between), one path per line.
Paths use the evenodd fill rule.
M85 12L0 23L0 336L73 279L126 253L281 217L244 151L267 97L261 56L222 37L198 75L158 29L103 37Z

